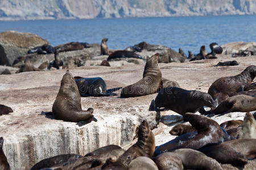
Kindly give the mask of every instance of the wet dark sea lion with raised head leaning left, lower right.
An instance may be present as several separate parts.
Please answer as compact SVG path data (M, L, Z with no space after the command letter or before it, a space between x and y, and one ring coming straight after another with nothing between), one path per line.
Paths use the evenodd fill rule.
M197 150L208 143L219 143L230 140L230 136L222 131L220 125L209 117L186 113L184 118L196 129L196 132L183 134L172 141L156 147L155 155L170 152L178 148ZM191 135L192 134L192 135Z

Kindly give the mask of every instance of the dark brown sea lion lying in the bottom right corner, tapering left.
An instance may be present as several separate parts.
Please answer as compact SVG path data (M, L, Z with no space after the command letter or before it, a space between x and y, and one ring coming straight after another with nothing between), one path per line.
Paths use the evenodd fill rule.
M247 159L256 158L256 139L236 139L199 149L222 164L244 165Z

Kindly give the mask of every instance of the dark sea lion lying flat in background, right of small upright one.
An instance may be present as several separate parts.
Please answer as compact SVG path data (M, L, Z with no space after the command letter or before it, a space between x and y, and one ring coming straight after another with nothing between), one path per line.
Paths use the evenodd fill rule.
M125 50L117 50L109 55L108 61L114 60L114 59L122 59L122 58L139 58L143 59L139 54L133 53L133 52L127 52Z

